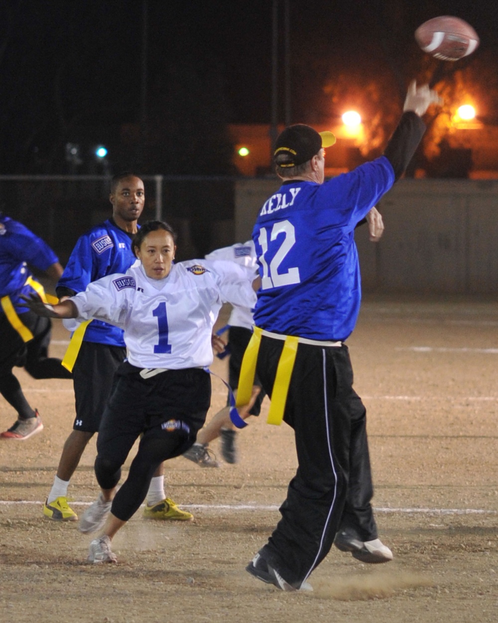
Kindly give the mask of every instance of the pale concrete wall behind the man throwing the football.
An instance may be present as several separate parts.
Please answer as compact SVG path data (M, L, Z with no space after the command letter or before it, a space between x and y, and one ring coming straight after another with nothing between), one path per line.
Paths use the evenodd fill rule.
M235 240L280 184L248 179L235 189ZM356 232L365 292L494 294L498 290L498 181L403 179L378 204L385 233Z

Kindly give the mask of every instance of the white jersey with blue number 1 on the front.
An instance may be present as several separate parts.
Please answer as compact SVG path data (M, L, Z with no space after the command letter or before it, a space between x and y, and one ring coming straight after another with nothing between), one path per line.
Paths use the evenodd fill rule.
M128 361L138 368L196 368L213 361L212 328L223 302L256 303L253 270L233 262L189 260L164 279L141 264L108 275L71 297L78 320L98 318L125 331Z

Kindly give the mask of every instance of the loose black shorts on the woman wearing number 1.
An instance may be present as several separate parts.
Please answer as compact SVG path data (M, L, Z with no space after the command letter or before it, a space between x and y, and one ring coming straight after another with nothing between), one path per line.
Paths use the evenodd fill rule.
M117 465L141 434L141 446L154 439L170 448L161 460L185 452L204 426L211 402L210 374L203 369L167 370L147 379L140 371L128 362L120 366L98 432L98 457ZM167 442L172 435L173 445Z

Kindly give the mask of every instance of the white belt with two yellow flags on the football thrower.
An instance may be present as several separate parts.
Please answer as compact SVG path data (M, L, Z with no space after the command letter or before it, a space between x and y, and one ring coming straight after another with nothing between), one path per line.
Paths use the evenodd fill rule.
M268 424L278 425L282 423L284 417L289 384L291 383L294 361L296 361L296 354L298 352L298 344L327 347L333 346L337 348L342 346L342 342L309 340L308 338L299 338L293 335L281 335L280 333L272 333L271 331L266 331L265 329L255 326L253 328L253 335L251 335L251 339L242 359L242 366L240 367L236 402L237 407L242 407L243 405L248 404L251 399L254 378L256 375L258 352L260 350L261 337L263 335L268 338L284 341L284 347L282 349L280 359L278 360L273 390L271 391L270 411L268 412L268 419L266 420ZM240 417L239 419L242 421ZM235 426L240 428L240 424L235 422L233 418L232 422Z

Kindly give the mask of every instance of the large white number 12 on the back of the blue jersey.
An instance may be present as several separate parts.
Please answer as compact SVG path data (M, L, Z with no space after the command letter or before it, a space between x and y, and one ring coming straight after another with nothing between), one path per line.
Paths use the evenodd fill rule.
M278 235L283 234L284 238L280 242L280 246L276 250L273 259L268 265L265 255L268 252L268 232L266 227L261 227L258 242L260 243L263 254L259 258L263 267L263 277L261 278L261 288L277 288L281 285L291 285L291 283L300 283L299 269L297 266L289 268L287 272L278 272L280 264L288 255L294 244L296 244L296 232L294 226L289 221L279 221L271 228L270 242L277 240ZM278 242L278 241L277 241ZM273 246L273 245L272 245Z

